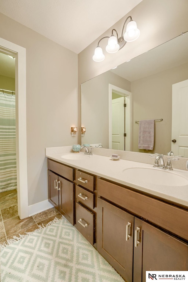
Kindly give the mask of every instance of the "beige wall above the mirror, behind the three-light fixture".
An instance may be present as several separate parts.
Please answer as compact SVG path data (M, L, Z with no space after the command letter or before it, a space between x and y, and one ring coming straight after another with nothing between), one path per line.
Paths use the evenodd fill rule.
M92 44L78 54L78 99L80 102L80 84L107 70L126 62L188 30L188 1L187 0L143 0L113 27L96 39ZM115 54L104 51L105 60L94 62L92 56L99 39L110 36L112 28L121 33L127 16L137 22L140 37ZM100 47L105 50L105 39ZM81 124L79 108L79 124Z

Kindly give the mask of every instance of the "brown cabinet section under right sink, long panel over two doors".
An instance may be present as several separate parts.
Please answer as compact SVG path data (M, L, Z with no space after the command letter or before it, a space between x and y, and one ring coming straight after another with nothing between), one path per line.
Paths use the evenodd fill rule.
M187 210L101 179L98 197L98 251L127 282L145 282L145 271L188 270Z

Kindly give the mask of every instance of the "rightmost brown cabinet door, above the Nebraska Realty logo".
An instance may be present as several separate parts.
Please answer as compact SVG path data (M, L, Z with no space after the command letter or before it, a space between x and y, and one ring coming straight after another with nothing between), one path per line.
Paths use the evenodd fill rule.
M145 271L188 270L188 245L135 218L133 281L145 282Z

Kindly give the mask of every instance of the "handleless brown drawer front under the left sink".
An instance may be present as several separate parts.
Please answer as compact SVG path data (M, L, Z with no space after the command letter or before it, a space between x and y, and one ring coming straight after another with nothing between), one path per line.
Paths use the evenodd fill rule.
M48 159L48 169L56 172L57 174L67 178L70 181L73 181L73 168L66 165L54 162L53 160Z

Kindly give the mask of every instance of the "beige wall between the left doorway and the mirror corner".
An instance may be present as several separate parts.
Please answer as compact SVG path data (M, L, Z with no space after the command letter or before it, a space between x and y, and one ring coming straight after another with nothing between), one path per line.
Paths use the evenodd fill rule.
M0 37L26 48L29 205L48 199L45 147L77 143L78 55L0 14Z

